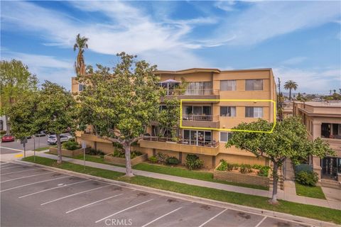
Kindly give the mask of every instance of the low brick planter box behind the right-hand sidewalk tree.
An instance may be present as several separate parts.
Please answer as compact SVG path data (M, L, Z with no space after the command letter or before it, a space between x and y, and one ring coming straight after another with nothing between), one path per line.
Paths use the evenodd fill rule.
M218 165L217 167L219 167ZM226 180L228 182L236 182L242 184L254 184L261 185L264 187L269 187L270 179L269 177L261 177L255 175L247 175L237 172L220 171L217 168L213 172L213 177L215 179Z

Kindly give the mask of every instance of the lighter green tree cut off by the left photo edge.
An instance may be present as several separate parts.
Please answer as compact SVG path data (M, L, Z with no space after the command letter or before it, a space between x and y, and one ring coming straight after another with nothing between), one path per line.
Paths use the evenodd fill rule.
M36 75L28 71L28 67L19 60L0 63L0 114L6 117L6 133L10 133L8 111L16 103L19 97L26 96L37 89L38 79Z

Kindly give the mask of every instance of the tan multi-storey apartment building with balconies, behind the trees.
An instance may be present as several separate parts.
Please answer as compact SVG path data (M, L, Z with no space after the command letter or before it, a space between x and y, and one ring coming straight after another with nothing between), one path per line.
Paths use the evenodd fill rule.
M260 101L220 101L219 99L268 99L276 100L276 84L271 69L257 70L226 70L189 69L180 71L157 71L161 77L161 86L166 89L165 99L194 99L183 101L183 127L199 127L203 129L178 128L178 141L171 138L158 137L158 126L148 128L146 136L140 140L138 147L148 153L148 156L165 153L178 157L185 162L187 154L196 154L204 160L205 167L215 167L221 159L234 163L269 165L269 160L255 157L253 154L225 148L225 143L231 135L228 131L218 131L214 128L233 128L242 122L256 121L264 118L274 121L274 104ZM187 89L177 89L180 82L185 81ZM72 92L82 89L72 78ZM196 99L208 99L195 101ZM161 101L162 108L162 101ZM180 119L179 119L180 120ZM212 128L212 130L210 129ZM85 140L93 148L104 153L112 153L112 143L102 140L91 131L77 134L78 140Z

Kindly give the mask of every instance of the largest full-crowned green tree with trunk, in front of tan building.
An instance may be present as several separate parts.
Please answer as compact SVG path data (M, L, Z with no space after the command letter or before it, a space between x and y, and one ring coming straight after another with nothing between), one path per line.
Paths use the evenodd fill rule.
M120 60L113 72L100 67L92 77L80 76L80 81L87 84L79 95L80 112L92 111L93 115L87 118L81 114L79 118L82 125L91 124L100 138L122 145L126 176L132 177L131 145L156 120L163 89L153 74L155 65L137 61L136 56L125 52L117 56ZM94 81L96 84L92 84Z

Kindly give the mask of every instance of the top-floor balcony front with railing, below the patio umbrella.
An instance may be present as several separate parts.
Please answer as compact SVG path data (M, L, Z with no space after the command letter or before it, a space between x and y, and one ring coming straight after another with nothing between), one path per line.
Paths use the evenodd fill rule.
M219 99L220 95L218 89L166 89L165 99L173 99L175 97L178 99ZM195 102L197 103L197 101Z

